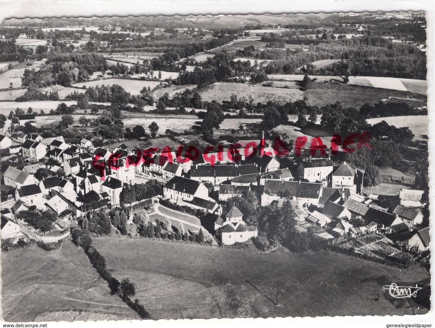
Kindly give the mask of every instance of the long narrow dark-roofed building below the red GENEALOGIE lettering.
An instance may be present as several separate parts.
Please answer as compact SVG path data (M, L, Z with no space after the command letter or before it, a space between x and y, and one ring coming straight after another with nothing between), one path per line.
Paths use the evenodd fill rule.
M207 181L215 186L234 179L236 176L246 174L258 174L254 164L246 165L195 165L191 167L191 179L196 181Z

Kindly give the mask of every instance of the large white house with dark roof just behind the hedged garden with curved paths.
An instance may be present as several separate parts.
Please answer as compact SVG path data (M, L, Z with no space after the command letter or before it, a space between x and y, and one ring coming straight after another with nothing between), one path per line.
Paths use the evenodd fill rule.
M199 181L183 178L181 176L174 176L174 178L164 185L163 196L164 198L175 202L191 202L194 197L207 199L208 189Z

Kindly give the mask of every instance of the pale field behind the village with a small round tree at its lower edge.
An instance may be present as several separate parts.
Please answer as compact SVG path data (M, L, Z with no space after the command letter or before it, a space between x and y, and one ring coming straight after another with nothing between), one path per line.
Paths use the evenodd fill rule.
M164 134L166 128L170 128L172 131L183 132L191 127L195 122L199 120L196 116L193 115L160 115L160 114L152 114L152 113L129 113L122 112L124 128L133 128L136 125L143 125L145 129L145 133L150 133L148 125L151 122L156 122L160 127L158 134Z

